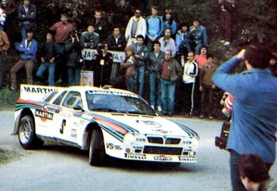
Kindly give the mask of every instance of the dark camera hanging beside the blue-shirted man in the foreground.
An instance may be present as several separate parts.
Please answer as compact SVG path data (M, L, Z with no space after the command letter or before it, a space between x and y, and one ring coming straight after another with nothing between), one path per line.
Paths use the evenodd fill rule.
M216 145L216 147L219 147L219 149L226 149L229 132L230 132L230 121L223 122L221 127L221 134L219 137L216 136L214 140L214 144Z

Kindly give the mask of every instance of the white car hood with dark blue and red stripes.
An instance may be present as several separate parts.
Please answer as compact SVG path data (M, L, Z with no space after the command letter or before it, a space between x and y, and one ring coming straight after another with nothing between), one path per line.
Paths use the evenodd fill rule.
M97 119L105 119L113 124L118 124L125 128L127 132L155 134L155 135L178 135L178 136L198 136L184 124L177 124L164 117L131 115L118 113L94 113ZM96 121L98 121L96 120Z

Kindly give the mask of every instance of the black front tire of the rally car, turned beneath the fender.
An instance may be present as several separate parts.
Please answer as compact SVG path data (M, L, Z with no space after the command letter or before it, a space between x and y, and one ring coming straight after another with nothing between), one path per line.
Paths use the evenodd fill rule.
M95 128L91 135L88 163L93 166L106 165L104 138L100 128Z

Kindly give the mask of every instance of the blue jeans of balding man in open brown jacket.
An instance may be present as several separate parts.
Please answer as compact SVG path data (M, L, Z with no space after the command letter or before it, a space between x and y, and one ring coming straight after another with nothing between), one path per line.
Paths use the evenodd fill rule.
M163 103L163 113L172 114L174 110L175 83L170 80L160 78L161 101Z

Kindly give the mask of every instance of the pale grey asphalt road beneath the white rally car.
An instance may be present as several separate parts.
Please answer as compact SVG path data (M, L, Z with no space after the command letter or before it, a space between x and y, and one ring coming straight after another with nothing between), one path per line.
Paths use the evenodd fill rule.
M13 112L0 111L0 147L21 156L0 164L0 190L231 190L229 155L214 147L221 122L177 120L200 135L198 163L173 167L157 163L112 160L107 167L88 164L88 152L46 145L36 151L19 146L13 131ZM276 165L271 177L277 177Z

